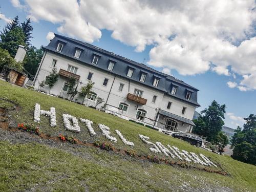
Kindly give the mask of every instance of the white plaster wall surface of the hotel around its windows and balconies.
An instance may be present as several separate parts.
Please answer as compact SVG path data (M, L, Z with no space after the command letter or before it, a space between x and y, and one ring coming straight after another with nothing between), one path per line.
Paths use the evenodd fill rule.
M128 112L127 113L124 112L124 115L127 117L135 118L137 110L143 109L143 110L147 111L147 114L146 114L147 118L151 118L151 119L155 120L156 115L157 115L156 109L160 107L164 111L168 111L170 113L182 116L184 118L187 118L190 120L193 118L195 106L193 106L191 104L183 102L174 97L165 95L163 92L157 91L150 87L143 86L142 84L140 84L138 82L130 81L130 83L129 83L128 79L121 78L118 76L115 77L114 74L95 69L91 66L83 65L83 64L78 63L72 59L62 57L60 55L50 53L50 52L46 53L44 61L41 63L41 68L40 68L40 71L38 72L38 76L35 81L35 88L38 89L39 82L42 80L45 80L46 76L48 76L51 73L53 68L51 68L50 66L51 66L53 59L57 60L57 63L56 63L57 72L59 71L59 69L67 70L68 65L78 68L76 74L80 75L80 82L82 82L82 84L78 83L78 90L81 88L81 86L84 86L85 84L88 83L87 77L88 77L89 72L93 73L93 76L91 79L92 81L95 82L94 87L93 87L93 92L97 93L99 97L104 99L104 101L107 100L109 92L111 90L112 83L114 81L113 87L112 87L112 90L111 90L111 93L110 93L110 96L108 99L108 104L116 106L117 108L118 108L120 102L125 102L125 103L129 104ZM109 79L107 86L102 85L104 78ZM115 80L114 80L114 78L115 78ZM65 98L67 98L67 94L61 90L62 90L63 84L65 82L68 82L68 80L69 80L68 78L60 76L58 78L58 81L55 83L54 87L52 88L51 93L54 95L61 95ZM120 83L124 84L123 90L121 92L118 91ZM130 86L129 86L129 84L130 84ZM47 86L42 89L45 91L49 91L49 88ZM128 93L133 94L134 89L139 89L139 90L143 91L142 97L147 99L147 103L145 105L140 105L138 103L126 100L127 94ZM155 103L152 102L153 95L157 96ZM78 101L81 101L82 97L77 95L75 97L75 99L77 99ZM172 106L171 106L170 110L166 109L168 101L172 102ZM95 105L95 103L93 101L90 101L87 99L85 102L89 103L91 105ZM103 105L103 104L104 103L102 103L101 105ZM186 113L184 115L181 114L183 106L185 106L187 108ZM145 119L145 122L154 124L154 121L151 121L148 119Z

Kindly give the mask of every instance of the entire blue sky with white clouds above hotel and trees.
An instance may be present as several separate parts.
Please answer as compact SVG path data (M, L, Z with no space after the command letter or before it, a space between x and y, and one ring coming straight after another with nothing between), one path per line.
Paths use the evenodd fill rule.
M14 16L33 21L33 45L53 33L89 42L198 88L197 111L226 104L225 125L256 114L254 0L10 0L0 27Z

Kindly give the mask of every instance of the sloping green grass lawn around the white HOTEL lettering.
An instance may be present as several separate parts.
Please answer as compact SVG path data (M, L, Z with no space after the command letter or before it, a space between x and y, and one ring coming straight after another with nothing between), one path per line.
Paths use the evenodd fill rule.
M18 105L16 111L9 111L15 123L33 123L35 103L41 109L55 107L57 126L51 127L49 117L41 116L40 130L51 136L59 134L74 136L80 141L93 143L106 141L98 123L110 127L111 135L118 142L115 148L131 148L123 144L115 133L119 130L129 141L138 155L152 155L150 146L144 144L139 134L150 137L150 141L175 145L180 150L204 154L214 163L217 170L223 170L229 176L207 173L198 169L172 167L166 164L150 163L125 155L106 152L95 147L82 146L80 153L90 158L72 155L72 153L38 143L11 144L0 143L0 191L172 191L203 190L203 187L228 187L234 191L256 191L256 166L233 160L229 156L220 156L202 150L179 139L164 135L147 127L129 122L118 117L32 90L13 86L0 81L0 99L8 99ZM0 107L11 109L14 104L0 100ZM94 122L95 137L91 137L85 124L79 122L80 133L65 131L62 114L70 114L78 119L90 119ZM1 140L1 139L0 139ZM158 155L160 158L164 157ZM203 167L194 164L197 167ZM185 184L184 184L185 183ZM188 188L182 188L186 185ZM185 187L185 186L184 186Z

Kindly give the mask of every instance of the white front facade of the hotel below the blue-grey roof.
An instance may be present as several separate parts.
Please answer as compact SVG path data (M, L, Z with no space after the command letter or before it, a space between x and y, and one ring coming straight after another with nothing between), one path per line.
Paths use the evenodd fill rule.
M54 65L53 60L56 60ZM82 86L85 86L89 80L87 80L88 74L93 73L91 80L95 82L92 91L97 94L97 97L101 97L108 104L106 106L107 112L117 114L124 119L133 119L138 122L143 122L151 126L156 126L163 128L167 117L163 115L158 115L158 110L164 110L166 112L178 115L180 117L192 120L196 109L196 106L188 102L182 101L178 98L164 94L164 92L158 91L156 89L144 86L141 83L115 76L108 71L103 71L96 69L92 66L84 65L77 62L74 59L63 57L60 54L46 51L42 57L42 61L37 71L36 79L34 82L34 87L36 89L41 89L49 92L49 87L46 85L44 88L39 88L39 83L46 80L46 77L52 72L53 67L57 69L57 72L62 70L68 70L69 66L77 68L76 74L80 75L79 83L77 85L77 90L79 91ZM108 78L108 83L103 86L104 79ZM67 91L63 91L65 83L69 81L69 78L59 76L58 81L54 84L50 93L56 96L62 96L63 98L68 98ZM122 91L119 91L120 83L123 84ZM138 104L134 101L127 100L127 94L134 94L134 90L138 89L143 91L142 98L147 99L146 104ZM156 96L155 103L152 102L153 96ZM81 102L83 97L77 94L73 101ZM128 105L126 112L119 110L119 103L126 103ZM167 109L168 102L172 102L170 109ZM95 106L95 101L85 99L84 104ZM104 103L101 104L101 106ZM183 107L186 108L185 113L182 114ZM139 109L146 112L145 118L139 120L136 119L136 114ZM109 110L109 111L108 111ZM156 122L155 122L156 121ZM163 123L163 124L161 124ZM184 124L177 121L178 130L181 131L191 131L191 125Z

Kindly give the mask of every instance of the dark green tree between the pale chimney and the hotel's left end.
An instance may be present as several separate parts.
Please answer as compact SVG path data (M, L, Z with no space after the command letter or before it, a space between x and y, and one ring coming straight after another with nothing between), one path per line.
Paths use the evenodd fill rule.
M40 49L36 49L34 46L29 47L27 50L27 54L23 61L24 69L34 76L39 67L38 63L40 63L42 55L44 55L44 50L42 47ZM31 76L30 79L32 79Z

